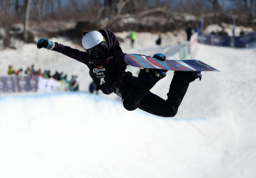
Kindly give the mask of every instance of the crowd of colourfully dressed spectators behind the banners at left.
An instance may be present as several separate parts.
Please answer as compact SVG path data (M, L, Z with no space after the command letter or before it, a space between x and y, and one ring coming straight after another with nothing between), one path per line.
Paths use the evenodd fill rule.
M16 76L20 76L22 75L22 68L18 69L18 70L14 70L14 68L12 67L12 65L9 65L9 69L7 74L8 75L16 75ZM68 74L64 74L63 72L58 72L56 70L56 72L52 75L51 74L51 70L44 70L44 72L42 72L41 68L39 68L38 70L35 70L34 65L31 65L31 67L27 67L26 70L24 71L25 75L28 76L38 76L38 77L42 77L42 78L54 78L55 80L58 80L60 82L64 82L64 84L68 84L69 86L69 90L70 91L78 91L79 89L79 83L77 80L77 75L72 75L71 79L68 80Z

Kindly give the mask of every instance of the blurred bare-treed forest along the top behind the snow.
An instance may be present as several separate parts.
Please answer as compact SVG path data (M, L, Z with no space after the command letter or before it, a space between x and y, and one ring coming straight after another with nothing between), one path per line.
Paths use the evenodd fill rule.
M0 0L0 39L8 46L15 30L28 43L34 35L68 35L85 28L166 32L198 25L202 15L205 26L231 24L235 18L237 25L256 30L256 0ZM75 27L68 29L64 24L69 22Z

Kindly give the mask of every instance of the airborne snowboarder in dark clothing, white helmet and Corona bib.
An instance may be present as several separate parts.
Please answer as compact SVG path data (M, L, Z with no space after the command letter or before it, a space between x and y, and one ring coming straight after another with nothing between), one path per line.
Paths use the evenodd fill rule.
M119 46L116 35L109 29L84 32L82 45L85 51L72 49L71 47L52 42L49 39L40 39L38 48L46 48L57 51L68 57L76 59L87 65L89 74L104 94L114 92L122 98L126 110L132 111L140 108L148 113L162 117L173 117L178 111L190 82L201 74L195 72L174 72L168 99L164 100L149 90L160 79L166 76L166 70L144 68L140 70L138 77L125 71L127 64L124 61L125 53ZM158 60L164 61L165 55L154 55Z

